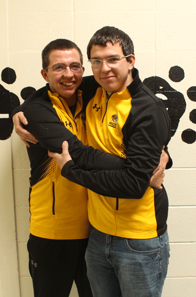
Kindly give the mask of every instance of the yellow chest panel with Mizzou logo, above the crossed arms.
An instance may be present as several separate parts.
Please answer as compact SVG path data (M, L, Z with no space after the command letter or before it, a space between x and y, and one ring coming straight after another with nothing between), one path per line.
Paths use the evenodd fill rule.
M131 95L127 89L114 93L107 99L106 92L98 88L86 110L88 145L126 157L122 128L130 109Z

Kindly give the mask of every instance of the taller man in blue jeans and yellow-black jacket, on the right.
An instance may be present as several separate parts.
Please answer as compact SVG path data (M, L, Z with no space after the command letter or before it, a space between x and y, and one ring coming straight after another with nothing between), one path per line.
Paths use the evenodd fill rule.
M169 116L141 82L127 34L103 27L87 53L100 85L94 92L91 88L86 108L88 144L126 156L124 168L79 169L67 144L62 154L49 155L64 177L90 189L86 261L93 296L160 297L169 260L168 198L164 187L154 189L149 181L170 140Z

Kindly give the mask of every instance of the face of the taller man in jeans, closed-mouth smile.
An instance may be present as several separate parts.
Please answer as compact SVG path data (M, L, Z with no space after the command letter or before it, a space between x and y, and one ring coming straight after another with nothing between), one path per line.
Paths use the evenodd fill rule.
M106 60L110 57L123 57L122 47L119 43L107 43L106 47L93 45L91 48L91 59ZM118 64L108 66L102 62L100 67L92 67L94 77L105 91L121 92L132 82L132 69L135 63L135 56L132 55L128 62L126 58L119 61Z

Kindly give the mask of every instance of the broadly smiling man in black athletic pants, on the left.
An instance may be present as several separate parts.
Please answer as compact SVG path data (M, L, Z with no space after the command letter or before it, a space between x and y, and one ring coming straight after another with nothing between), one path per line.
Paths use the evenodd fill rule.
M58 39L45 47L42 60L41 73L48 84L31 96L28 105L25 101L18 107L25 112L27 129L39 140L27 148L31 163L27 247L34 296L68 297L75 281L80 297L92 297L85 262L90 230L87 189L61 176L48 149L60 152L65 139L70 146L74 142L75 161L86 169L118 169L121 160L83 145L85 111L77 90L84 73L80 49ZM76 142L76 136L81 141ZM89 151L92 157L87 156Z

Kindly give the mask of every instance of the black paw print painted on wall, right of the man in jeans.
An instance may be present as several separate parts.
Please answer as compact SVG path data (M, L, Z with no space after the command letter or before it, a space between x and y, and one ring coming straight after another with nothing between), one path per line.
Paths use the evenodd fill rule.
M173 82L180 82L184 79L184 70L179 66L173 66L169 70L169 78ZM168 110L171 119L171 136L174 136L180 122L180 118L186 110L186 101L182 93L173 89L169 83L161 77L152 76L144 80L144 84L156 95L164 95L163 102ZM196 101L196 87L187 91L190 100ZM190 112L190 120L196 124L196 109ZM182 132L182 140L187 144L196 141L196 131L187 129Z

